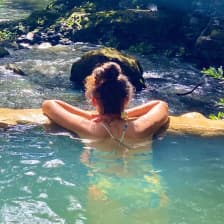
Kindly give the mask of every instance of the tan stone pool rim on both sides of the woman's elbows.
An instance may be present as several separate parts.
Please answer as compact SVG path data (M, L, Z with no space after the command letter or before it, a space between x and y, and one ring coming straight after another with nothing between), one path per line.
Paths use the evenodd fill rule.
M0 108L0 128L17 124L49 125L51 122L43 115L41 109ZM170 116L166 128L168 133L176 135L224 136L224 120L210 120L196 112Z

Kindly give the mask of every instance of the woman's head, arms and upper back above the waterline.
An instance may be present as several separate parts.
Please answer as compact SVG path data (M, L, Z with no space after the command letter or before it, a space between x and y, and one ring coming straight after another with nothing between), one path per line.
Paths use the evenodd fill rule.
M86 98L95 107L94 112L63 101L46 100L42 105L43 113L79 136L111 138L120 144L124 138L152 136L168 120L168 106L163 101L150 101L126 109L133 86L117 63L107 62L96 67L86 78L85 89Z

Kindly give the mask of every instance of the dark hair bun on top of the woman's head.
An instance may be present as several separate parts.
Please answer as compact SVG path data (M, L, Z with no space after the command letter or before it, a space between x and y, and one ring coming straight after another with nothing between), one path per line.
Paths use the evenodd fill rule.
M95 69L96 84L116 81L122 73L120 65L115 62L106 62Z

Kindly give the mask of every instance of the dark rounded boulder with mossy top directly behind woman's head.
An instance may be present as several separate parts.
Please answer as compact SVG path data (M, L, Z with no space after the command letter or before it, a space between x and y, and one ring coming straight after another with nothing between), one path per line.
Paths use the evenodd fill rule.
M78 61L73 63L70 80L82 87L85 77L90 75L97 65L108 61L116 62L121 66L124 74L128 76L137 91L145 87L143 70L138 60L114 48L100 48L84 54Z

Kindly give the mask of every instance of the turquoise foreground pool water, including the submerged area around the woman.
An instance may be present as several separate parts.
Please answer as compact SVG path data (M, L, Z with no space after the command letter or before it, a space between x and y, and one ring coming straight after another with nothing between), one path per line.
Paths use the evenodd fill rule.
M122 157L41 127L0 130L0 223L223 224L223 145L165 136Z

